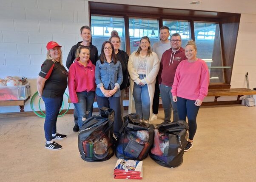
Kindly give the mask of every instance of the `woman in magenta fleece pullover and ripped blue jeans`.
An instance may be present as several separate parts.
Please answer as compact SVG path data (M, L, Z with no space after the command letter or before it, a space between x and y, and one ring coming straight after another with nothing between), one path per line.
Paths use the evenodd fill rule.
M90 60L90 47L80 45L77 58L68 71L68 91L71 102L77 109L78 126L91 117L95 98L95 66Z

